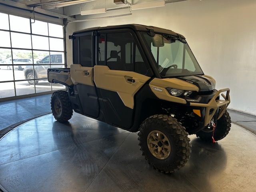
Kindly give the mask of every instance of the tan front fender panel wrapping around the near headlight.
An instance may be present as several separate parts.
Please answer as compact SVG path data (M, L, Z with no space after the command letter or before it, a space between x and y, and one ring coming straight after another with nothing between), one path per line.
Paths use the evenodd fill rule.
M154 78L150 83L149 83L150 89L152 92L160 99L170 101L170 102L176 102L176 103L181 103L181 104L186 104L186 100L172 96L166 88L175 88L175 89L180 89L180 90L190 90L190 91L197 91L199 88L191 84L189 82L186 82L184 80L180 80L177 78L164 78L164 79L159 79L159 78Z

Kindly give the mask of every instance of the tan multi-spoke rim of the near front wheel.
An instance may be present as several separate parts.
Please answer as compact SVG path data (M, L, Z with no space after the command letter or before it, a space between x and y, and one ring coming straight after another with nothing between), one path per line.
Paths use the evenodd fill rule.
M166 159L171 152L170 141L167 136L158 130L151 131L147 138L148 149L158 159Z

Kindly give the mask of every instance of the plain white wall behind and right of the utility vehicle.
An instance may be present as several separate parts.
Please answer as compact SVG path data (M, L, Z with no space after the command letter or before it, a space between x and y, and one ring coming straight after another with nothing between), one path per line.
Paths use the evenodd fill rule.
M255 18L255 0L188 0L132 11L132 16L82 22L76 27L136 23L183 34L204 73L216 79L216 88L231 89L230 108L256 114Z

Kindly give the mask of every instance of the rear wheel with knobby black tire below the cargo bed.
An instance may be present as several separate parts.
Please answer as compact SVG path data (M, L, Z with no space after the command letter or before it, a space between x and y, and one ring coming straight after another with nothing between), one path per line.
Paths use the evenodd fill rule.
M56 91L51 97L52 114L58 122L67 122L73 114L68 92Z

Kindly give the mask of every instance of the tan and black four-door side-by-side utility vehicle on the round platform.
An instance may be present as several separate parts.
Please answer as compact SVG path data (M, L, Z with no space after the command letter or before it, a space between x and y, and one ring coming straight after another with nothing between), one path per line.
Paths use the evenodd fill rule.
M161 172L184 166L188 134L215 142L230 130L230 90L215 89L184 36L136 24L90 28L72 36L73 64L48 69L55 119L73 113L138 132L142 155ZM214 67L214 66L212 66Z

